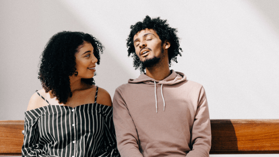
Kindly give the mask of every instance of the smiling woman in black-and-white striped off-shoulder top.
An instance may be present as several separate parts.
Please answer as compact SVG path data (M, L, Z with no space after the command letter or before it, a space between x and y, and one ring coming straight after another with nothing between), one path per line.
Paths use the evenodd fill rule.
M118 157L110 94L95 86L103 46L82 32L51 37L41 57L43 89L31 97L22 157Z

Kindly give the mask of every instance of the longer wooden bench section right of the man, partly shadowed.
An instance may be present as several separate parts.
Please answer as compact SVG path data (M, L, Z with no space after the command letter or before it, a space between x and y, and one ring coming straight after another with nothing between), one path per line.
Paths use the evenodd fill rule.
M279 120L211 120L210 154L279 154Z

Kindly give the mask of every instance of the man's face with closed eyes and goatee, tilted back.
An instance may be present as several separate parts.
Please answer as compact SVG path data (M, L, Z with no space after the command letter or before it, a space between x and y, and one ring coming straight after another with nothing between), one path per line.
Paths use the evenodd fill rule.
M153 29L144 29L134 36L136 54L143 66L151 67L163 57L162 41Z

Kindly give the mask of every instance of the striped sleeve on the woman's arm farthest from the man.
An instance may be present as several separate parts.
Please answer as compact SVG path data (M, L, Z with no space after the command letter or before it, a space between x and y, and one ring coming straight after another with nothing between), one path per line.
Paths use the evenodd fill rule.
M30 119L25 114L24 121L24 139L21 149L22 157L51 157L39 145L38 118ZM52 156L54 157L54 156Z

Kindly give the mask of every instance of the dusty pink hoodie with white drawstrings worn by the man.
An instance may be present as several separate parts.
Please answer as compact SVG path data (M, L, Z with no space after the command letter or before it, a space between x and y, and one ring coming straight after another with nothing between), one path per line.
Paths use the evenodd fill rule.
M113 119L122 157L209 157L205 91L183 73L130 79L116 89Z

